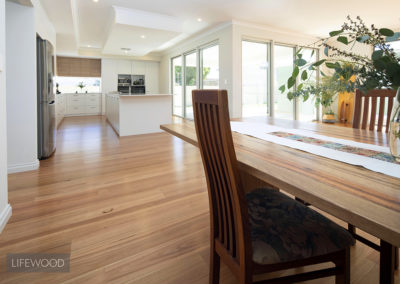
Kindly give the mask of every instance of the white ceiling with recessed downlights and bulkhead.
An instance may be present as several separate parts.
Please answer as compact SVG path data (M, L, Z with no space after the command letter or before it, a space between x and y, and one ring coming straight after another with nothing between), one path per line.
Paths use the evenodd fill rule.
M231 20L324 36L340 28L347 15L359 15L367 24L400 30L399 0L40 1L57 31L57 49L64 53L95 49L142 56ZM121 48L131 50L126 54Z

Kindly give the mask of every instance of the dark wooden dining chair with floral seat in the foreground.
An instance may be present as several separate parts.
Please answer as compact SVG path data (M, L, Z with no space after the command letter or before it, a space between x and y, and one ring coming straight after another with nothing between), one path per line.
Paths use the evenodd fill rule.
M349 232L276 189L245 194L226 90L194 90L193 109L210 203L210 283L219 283L221 261L241 284L257 274L325 262L335 266L255 283L333 275L336 283L350 283Z

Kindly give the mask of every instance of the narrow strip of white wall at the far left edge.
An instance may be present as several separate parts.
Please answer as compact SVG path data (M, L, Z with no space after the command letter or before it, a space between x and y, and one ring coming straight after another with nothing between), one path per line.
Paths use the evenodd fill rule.
M0 0L0 233L11 216L7 192L7 114L6 114L6 16L5 0Z

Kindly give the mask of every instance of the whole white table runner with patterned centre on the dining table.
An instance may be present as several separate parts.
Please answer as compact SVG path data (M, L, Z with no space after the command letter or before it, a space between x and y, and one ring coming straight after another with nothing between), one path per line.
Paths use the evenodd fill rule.
M241 134L400 178L400 163L393 158L388 147L262 123L234 121L231 128Z

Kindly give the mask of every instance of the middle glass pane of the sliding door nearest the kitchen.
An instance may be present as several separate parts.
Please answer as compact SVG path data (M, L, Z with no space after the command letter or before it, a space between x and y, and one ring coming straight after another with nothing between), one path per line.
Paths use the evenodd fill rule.
M185 55L185 117L193 118L192 90L197 86L197 53Z

